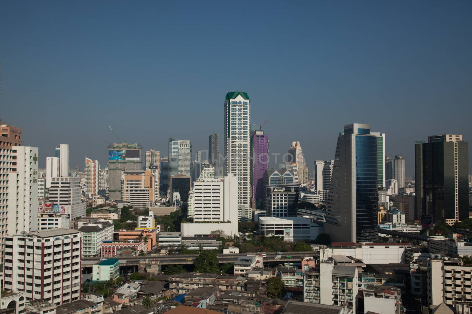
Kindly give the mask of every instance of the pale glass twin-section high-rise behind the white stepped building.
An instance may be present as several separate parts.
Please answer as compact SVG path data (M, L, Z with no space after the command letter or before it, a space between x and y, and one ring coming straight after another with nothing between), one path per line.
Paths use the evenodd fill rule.
M188 140L169 138L169 177L177 174L192 174L192 143Z

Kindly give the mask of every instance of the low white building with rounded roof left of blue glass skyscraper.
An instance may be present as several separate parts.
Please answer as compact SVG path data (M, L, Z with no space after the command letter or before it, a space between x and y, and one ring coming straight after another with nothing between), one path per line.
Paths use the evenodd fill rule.
M288 242L316 239L323 227L303 217L260 217L259 234L279 236Z

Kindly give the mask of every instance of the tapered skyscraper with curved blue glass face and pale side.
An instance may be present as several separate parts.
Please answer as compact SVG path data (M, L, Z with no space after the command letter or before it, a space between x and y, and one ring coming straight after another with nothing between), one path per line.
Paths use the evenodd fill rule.
M371 126L344 126L337 139L325 231L333 242L377 242L377 137Z

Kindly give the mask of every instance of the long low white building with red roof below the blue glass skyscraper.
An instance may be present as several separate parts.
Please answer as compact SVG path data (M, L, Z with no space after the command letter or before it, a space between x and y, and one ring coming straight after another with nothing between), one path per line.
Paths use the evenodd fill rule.
M365 264L405 263L410 243L350 243L333 242L332 248L324 249L325 258L333 255L352 256ZM321 254L321 253L320 253Z

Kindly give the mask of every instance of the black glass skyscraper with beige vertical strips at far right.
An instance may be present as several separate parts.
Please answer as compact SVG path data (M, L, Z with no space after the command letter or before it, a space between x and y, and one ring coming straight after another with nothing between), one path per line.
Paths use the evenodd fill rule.
M462 135L434 135L415 144L416 218L454 224L469 217L468 143Z

